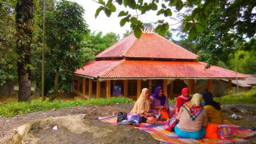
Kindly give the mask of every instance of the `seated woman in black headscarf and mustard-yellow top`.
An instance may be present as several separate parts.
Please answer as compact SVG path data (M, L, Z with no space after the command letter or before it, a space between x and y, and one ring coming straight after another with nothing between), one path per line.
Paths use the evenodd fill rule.
M209 122L217 125L223 124L221 106L218 102L213 101L213 94L211 94L210 91L205 91L203 93L203 101L205 101L205 106L203 108L206 110Z

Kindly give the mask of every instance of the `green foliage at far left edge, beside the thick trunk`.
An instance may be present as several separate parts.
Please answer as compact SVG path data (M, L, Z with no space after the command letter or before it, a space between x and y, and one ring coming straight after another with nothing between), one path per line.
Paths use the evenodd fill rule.
M14 6L14 0L0 1L0 86L18 79Z

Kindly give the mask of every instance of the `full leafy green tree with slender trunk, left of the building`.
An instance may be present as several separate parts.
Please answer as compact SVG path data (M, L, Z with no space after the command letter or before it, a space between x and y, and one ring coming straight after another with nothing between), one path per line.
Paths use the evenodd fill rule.
M46 14L46 61L55 72L54 93L58 92L59 74L82 67L87 60L87 49L82 46L83 36L89 32L84 12L78 3L62 0Z

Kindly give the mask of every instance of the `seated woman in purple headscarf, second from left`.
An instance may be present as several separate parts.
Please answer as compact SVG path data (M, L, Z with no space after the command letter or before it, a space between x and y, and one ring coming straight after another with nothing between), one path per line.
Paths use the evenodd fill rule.
M158 115L159 111L166 110L167 117L171 118L174 114L173 110L169 108L168 98L163 94L162 87L157 87L154 94L151 95L151 112Z

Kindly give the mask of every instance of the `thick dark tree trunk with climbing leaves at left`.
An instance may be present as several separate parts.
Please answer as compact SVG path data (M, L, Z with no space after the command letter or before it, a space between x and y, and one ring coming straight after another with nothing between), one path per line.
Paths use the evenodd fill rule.
M31 100L31 43L34 27L34 0L19 0L16 3L16 30L18 57L19 102Z

